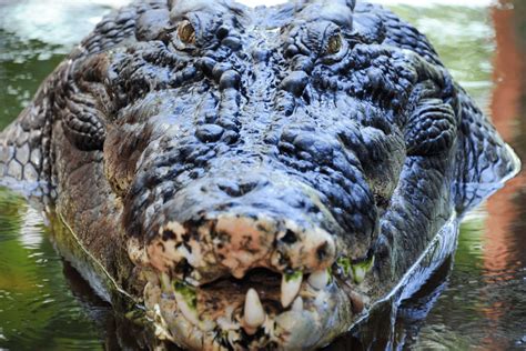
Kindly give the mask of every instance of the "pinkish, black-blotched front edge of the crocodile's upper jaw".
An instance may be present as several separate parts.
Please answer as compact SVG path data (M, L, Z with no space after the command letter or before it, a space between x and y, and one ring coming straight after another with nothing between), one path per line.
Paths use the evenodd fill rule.
M337 238L290 220L226 213L190 225L162 225L145 253L151 267L195 287L225 275L242 279L255 268L284 275L322 271L336 259Z

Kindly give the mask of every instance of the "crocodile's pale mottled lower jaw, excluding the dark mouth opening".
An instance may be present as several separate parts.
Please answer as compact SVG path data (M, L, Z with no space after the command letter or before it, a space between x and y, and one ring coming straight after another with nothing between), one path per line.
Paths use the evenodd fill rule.
M342 282L334 280L323 290L304 283L296 304L281 312L267 313L265 322L253 330L243 328L239 303L214 317L208 311L188 318L175 295L150 279L144 289L146 313L153 321L155 337L191 350L314 349L346 332L356 315ZM229 301L229 297L222 297ZM198 314L195 314L198 315Z

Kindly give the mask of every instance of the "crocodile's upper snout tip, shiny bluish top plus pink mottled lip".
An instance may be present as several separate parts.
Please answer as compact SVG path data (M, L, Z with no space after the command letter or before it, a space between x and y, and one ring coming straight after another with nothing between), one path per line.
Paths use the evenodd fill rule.
M324 212L306 187L292 181L205 178L165 204L149 261L196 285L243 279L257 268L321 271L336 259L335 224Z

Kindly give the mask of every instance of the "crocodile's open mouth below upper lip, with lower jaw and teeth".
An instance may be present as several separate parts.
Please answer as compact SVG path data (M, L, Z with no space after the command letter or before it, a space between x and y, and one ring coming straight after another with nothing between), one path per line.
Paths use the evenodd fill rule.
M284 277L256 268L243 279L193 287L153 274L144 303L160 339L194 350L239 350L322 345L345 331L366 300L351 299L328 271Z

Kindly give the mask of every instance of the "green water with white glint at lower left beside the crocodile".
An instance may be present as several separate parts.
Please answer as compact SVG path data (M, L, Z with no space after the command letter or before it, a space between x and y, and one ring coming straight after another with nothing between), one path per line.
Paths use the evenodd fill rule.
M109 307L90 313L64 270L39 211L0 189L0 348L101 349Z

